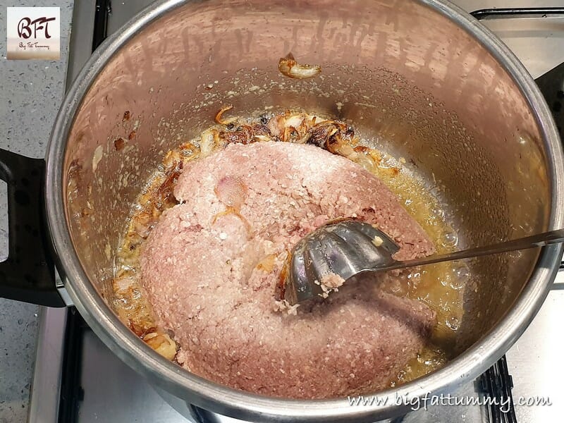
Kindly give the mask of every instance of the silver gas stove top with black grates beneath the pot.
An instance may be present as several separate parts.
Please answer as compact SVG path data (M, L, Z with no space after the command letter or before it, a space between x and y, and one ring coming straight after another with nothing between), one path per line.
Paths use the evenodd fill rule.
M482 19L513 49L533 78L537 78L562 136L564 8L552 13L530 9L561 6L558 1L454 2ZM150 3L149 0L75 1L67 86L106 35ZM508 5L512 9L491 10ZM428 403L413 405L418 410L389 422L559 421L564 415L564 391L560 389L560 381L564 379L560 362L563 306L564 273L560 272L537 317L491 369L458 391L443 393L441 403L447 405L434 405L429 398ZM479 401L478 404L452 405L456 398L479 398ZM487 405L487 398L497 398L498 405ZM73 307L41 309L30 423L240 422L178 401L182 414L165 402L142 376L111 353Z

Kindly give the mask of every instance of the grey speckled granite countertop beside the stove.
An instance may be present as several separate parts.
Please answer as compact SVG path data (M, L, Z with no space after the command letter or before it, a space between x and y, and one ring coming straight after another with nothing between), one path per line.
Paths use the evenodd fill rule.
M0 148L44 157L63 97L72 0L2 2L0 8ZM59 6L59 61L6 59L6 6ZM6 184L0 185L0 258L7 256ZM0 299L0 423L27 419L37 336L37 306Z

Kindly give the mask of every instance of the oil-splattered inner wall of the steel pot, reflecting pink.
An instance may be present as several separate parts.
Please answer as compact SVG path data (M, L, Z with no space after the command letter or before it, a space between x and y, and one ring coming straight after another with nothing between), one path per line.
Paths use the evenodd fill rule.
M278 73L290 51L321 75ZM68 137L66 217L102 295L110 295L118 238L147 178L226 104L239 116L298 108L350 121L440 188L459 247L547 227L537 124L503 68L444 16L403 0L192 1L118 49ZM471 262L458 351L510 309L536 259L527 252Z

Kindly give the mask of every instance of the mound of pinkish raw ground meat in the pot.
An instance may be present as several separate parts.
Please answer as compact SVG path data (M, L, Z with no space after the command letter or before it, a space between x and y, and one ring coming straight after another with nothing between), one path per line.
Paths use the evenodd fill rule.
M373 276L297 314L275 302L287 251L328 219L376 224L400 259L434 251L357 164L312 145L228 145L185 168L174 195L180 204L161 216L140 264L186 369L253 393L331 398L385 388L422 348L434 312L384 293Z

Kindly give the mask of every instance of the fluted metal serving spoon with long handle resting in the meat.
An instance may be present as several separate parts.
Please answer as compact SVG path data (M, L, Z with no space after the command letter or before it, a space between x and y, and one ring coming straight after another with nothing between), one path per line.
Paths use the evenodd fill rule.
M346 281L367 271L383 272L562 242L564 229L558 229L485 247L400 262L392 257L400 249L398 245L369 223L355 220L328 223L306 235L293 248L283 298L295 305L318 295L326 297L323 281L328 277L335 278L333 275Z

